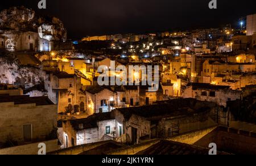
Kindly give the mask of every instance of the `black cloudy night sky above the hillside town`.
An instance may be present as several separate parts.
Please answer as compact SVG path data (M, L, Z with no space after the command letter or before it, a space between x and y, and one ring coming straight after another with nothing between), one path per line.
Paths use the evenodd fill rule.
M47 9L38 9L39 0L1 1L0 10L10 6L31 8L37 14L63 20L68 37L117 33L144 33L220 27L232 24L247 14L256 13L255 0L217 0L210 10L210 0L46 0Z

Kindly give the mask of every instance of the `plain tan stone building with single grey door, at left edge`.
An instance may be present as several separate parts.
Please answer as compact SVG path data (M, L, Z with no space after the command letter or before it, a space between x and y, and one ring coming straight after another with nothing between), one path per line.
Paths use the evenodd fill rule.
M57 150L57 106L48 97L0 97L0 154L36 155L38 144Z

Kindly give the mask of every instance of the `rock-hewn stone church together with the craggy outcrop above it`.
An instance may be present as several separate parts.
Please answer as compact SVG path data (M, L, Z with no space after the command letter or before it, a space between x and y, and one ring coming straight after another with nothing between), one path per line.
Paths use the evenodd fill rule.
M35 16L35 11L23 6L2 10L0 22L0 35L5 36L8 51L51 51L53 41L67 40L60 19Z

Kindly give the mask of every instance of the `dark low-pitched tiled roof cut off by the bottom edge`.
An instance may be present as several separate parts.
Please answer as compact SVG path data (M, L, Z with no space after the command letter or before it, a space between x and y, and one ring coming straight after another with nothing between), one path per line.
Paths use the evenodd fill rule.
M218 155L226 153L217 152ZM189 144L161 140L136 155L209 155L209 149Z

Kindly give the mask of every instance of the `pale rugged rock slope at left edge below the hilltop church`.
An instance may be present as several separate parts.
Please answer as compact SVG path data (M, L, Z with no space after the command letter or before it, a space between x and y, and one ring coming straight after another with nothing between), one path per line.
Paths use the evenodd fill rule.
M39 68L19 65L11 57L0 57L0 82L32 88L48 79L46 72Z

